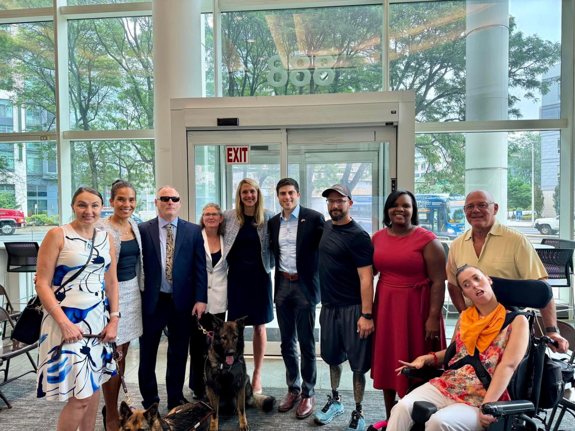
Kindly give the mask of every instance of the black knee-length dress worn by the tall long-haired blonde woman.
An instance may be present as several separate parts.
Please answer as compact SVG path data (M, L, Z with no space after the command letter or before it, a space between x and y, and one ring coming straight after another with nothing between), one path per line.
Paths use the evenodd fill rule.
M271 275L262 263L262 247L253 216L244 224L228 253L228 321L248 316L246 325L274 320Z

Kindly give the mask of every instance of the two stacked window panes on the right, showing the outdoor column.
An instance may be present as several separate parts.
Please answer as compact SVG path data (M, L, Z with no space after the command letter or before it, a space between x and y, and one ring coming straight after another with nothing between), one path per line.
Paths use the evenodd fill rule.
M561 118L561 1L392 4L389 77L416 91L420 122ZM417 134L416 192L490 186L507 224L539 242L535 220L558 216L558 148L559 130ZM506 175L485 179L494 168Z

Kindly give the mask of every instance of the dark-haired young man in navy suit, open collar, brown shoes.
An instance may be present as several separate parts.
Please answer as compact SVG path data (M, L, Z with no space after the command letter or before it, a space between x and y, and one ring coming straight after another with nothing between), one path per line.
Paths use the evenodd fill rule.
M275 257L275 304L281 333L282 357L286 365L287 395L279 411L297 407L296 417L313 413L316 384L316 344L313 328L316 305L320 302L317 248L325 218L317 211L298 205L300 186L292 178L279 180L277 187L281 213L271 218L271 251ZM301 350L301 378L297 340Z

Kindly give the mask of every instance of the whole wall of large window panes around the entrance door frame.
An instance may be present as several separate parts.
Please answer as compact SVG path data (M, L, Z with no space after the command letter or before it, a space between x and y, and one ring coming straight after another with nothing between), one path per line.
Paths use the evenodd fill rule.
M114 3L134 9L124 5L125 12L109 18L104 9ZM29 205L47 217L59 216L57 205L52 210L50 203L33 203L44 186L55 188L59 199L57 127L64 140L68 131L79 133L67 140L71 164L62 168L72 178L60 194L79 185L106 193L116 176L133 179L140 201L154 189L151 3L147 11L138 3L56 0L56 18L67 22L59 58L68 64L62 68L54 60L55 17L45 11L53 1L0 0L0 193L14 201L4 206L26 217ZM510 126L504 132L447 133L446 126L416 134L416 191L463 195L493 169L504 170L497 182L483 186L496 189L509 223L521 222L520 211L535 234L531 217L558 216L559 130L541 131L537 122L561 117L561 0L390 0L329 7L319 1L306 8L282 0L267 8L258 2L259 10L255 2L229 4L220 0L214 17L211 3L202 2L202 37L190 41L204 47L206 97L410 89L420 125L532 121L531 132ZM94 5L104 9L97 12ZM64 14L67 6L74 11ZM18 24L1 15L18 9L27 9ZM34 10L44 16L26 18ZM55 76L64 70L68 91L60 90L58 116ZM59 118L65 121L58 124ZM150 131L145 138L143 130ZM82 135L99 131L101 136ZM110 135L114 131L125 133ZM30 136L2 137L8 133ZM37 145L41 133L47 139ZM118 149L125 149L119 162L113 160ZM525 166L517 167L518 161ZM141 212L145 220L153 208L142 205Z

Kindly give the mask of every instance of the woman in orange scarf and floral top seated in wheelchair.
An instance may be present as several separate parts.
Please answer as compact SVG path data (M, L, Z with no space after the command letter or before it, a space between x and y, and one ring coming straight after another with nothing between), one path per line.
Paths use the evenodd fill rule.
M450 361L474 355L492 376L485 390L476 371L470 364L447 370L439 378L430 380L409 392L392 409L386 431L411 429L413 403L428 401L438 407L425 424L425 430L481 431L496 419L481 413L481 405L493 401L507 401L507 386L513 372L527 350L529 343L528 322L524 315L517 315L511 324L502 328L505 308L493 294L492 280L476 267L465 265L457 271L457 283L463 295L473 301L473 306L461 313L452 339L456 353ZM443 363L445 350L430 352L411 363L400 361L403 368L422 368Z

